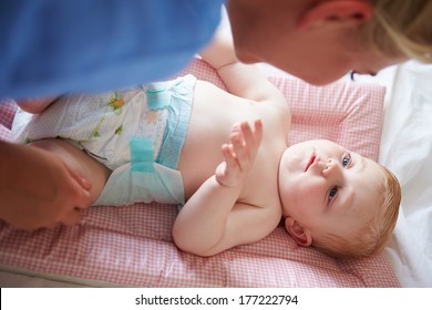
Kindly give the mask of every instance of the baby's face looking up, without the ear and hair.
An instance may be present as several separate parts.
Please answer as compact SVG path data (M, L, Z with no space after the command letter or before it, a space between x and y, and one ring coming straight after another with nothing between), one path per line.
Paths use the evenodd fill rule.
M313 236L363 226L380 204L383 182L377 163L326 140L288 147L279 167L284 214Z

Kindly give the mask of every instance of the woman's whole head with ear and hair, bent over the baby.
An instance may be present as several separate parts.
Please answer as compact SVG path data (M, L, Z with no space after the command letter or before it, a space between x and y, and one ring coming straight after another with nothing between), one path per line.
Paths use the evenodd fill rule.
M428 0L229 0L237 56L312 84L431 61ZM423 12L424 10L424 12Z

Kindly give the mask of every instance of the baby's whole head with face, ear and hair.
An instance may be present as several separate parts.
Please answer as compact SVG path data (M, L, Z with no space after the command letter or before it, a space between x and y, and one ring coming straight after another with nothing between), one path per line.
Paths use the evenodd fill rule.
M286 149L278 182L285 227L299 245L362 257L389 241L401 188L378 163L327 140L307 141Z

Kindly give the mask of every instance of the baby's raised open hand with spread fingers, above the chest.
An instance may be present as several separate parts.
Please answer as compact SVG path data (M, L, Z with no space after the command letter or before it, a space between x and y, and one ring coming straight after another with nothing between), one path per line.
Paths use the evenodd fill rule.
M255 130L248 122L234 125L229 143L222 146L224 162L216 168L216 179L224 186L240 185L254 165L258 147L263 138L263 122L254 123Z

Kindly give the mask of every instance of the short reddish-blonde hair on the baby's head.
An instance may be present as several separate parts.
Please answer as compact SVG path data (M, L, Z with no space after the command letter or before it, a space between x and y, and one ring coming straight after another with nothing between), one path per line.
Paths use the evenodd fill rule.
M384 174L381 202L370 221L359 231L348 231L343 236L325 234L313 240L312 246L338 258L367 257L384 249L398 220L402 194L398 178L388 168L380 166Z

